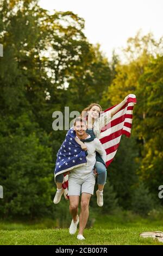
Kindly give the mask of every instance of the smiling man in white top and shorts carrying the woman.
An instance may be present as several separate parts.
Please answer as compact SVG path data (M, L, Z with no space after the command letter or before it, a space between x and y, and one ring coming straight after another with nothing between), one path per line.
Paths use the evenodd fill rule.
M91 136L86 133L86 121L82 118L76 118L74 121L74 131L79 139L89 139ZM94 165L96 162L96 151L106 161L106 152L99 139L95 138L91 142L85 142L87 147L86 164L73 168L68 177L68 196L70 199L70 213L72 222L70 225L70 234L75 234L79 223L79 233L77 239L84 240L83 232L89 217L89 203L95 187ZM81 197L81 211L78 216L79 197Z

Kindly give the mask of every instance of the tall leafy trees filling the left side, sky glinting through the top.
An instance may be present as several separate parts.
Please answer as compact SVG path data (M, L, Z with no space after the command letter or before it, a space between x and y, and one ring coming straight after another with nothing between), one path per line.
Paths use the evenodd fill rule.
M90 100L99 100L110 79L99 46L91 45L83 33L84 20L71 11L50 15L37 2L0 4L4 217L54 216L53 172L66 131L52 130L52 113L64 112L65 106L82 111Z

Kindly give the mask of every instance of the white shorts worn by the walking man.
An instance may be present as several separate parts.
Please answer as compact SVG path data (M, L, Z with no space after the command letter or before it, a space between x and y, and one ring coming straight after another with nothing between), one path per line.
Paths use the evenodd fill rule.
M85 179L70 175L68 177L68 196L80 196L81 193L93 194L95 181L93 173L87 175Z

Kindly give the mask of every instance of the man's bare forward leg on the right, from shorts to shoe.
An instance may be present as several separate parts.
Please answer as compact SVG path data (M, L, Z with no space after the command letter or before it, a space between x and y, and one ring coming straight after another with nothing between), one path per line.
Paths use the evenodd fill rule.
M81 212L79 217L79 234L83 235L88 217L89 217L89 203L91 194L82 193Z

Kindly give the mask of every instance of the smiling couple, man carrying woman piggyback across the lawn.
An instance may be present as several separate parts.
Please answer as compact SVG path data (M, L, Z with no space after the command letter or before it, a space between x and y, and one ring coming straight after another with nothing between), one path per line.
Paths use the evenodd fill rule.
M97 204L98 206L103 206L103 189L106 182L106 152L98 137L102 127L108 124L113 115L126 104L127 98L128 96L114 107L114 109L103 114L101 114L102 107L96 103L92 103L82 111L79 118L75 119L73 128L70 129L71 132L74 131L74 140L80 145L83 151L87 151L86 163L71 168L68 176L68 196L70 199L70 214L72 215L69 232L70 234L75 234L79 223L79 232L77 235L77 239L79 240L85 239L83 232L89 217L89 203L95 187L96 174L98 175L98 190L96 191ZM59 157L59 154L57 156ZM60 202L64 192L62 189L63 173L58 174L55 172L57 192L53 200L54 204ZM81 210L80 216L78 216L79 197L81 194Z

